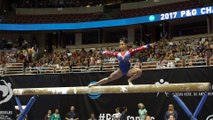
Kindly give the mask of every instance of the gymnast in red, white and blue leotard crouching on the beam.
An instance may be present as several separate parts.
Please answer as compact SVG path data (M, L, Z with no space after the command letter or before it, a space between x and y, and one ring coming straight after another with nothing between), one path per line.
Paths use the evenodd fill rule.
M132 81L141 76L141 74L142 74L141 69L134 68L134 67L130 68L130 65L131 65L130 58L136 52L153 48L155 43L144 45L144 46L141 46L141 47L138 47L135 49L131 49L131 50L128 50L127 43L128 43L127 38L122 37L120 39L120 44L119 44L120 52L110 52L110 51L102 52L103 55L117 57L118 62L119 62L119 68L116 71L114 71L113 73L111 73L109 77L103 78L96 83L89 84L88 85L89 87L106 84L110 81L119 79L122 76L129 77L128 83L131 86L131 85L133 85Z

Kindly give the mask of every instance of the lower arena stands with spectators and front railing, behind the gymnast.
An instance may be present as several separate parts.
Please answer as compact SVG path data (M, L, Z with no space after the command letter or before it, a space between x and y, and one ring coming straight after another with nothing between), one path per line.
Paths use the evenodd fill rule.
M213 36L195 35L176 37L172 41L161 39L154 51L136 54L143 70L206 67L213 65ZM34 49L1 51L1 74L51 74L69 72L114 71L118 62L114 57L100 54L101 48L71 52L55 51L38 54ZM116 51L117 48L111 49ZM144 53L148 54L144 56ZM142 60L145 57L145 60Z

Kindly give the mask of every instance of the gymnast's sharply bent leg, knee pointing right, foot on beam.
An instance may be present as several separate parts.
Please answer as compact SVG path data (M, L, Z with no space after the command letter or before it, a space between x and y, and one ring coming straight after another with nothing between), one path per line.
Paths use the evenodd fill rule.
M130 77L128 79L129 85L133 85L132 81L140 77L142 74L142 70L139 68L132 68L128 71L127 76Z

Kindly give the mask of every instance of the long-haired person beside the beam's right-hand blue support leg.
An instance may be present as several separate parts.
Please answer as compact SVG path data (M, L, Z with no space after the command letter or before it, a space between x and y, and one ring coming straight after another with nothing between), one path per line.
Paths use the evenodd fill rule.
M169 104L168 105L168 110L165 113L165 120L169 120L170 115L174 116L175 120L177 120L178 118L178 113L176 112L176 110L174 109L174 105L173 104Z

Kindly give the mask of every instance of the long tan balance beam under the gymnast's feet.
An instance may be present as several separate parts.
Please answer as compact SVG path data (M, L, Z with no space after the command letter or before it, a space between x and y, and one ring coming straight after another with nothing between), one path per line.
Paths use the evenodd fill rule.
M156 93L156 92L207 92L211 84L203 83L171 83L166 85L113 85L113 86L78 86L50 88L18 88L13 95L73 95L73 94L123 94L123 93Z

